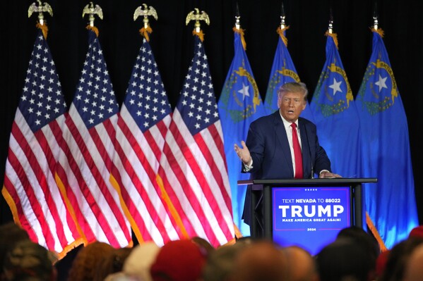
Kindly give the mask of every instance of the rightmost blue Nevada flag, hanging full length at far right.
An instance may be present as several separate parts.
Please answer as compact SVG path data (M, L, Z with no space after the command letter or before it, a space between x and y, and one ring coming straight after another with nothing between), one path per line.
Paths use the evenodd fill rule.
M407 238L418 225L407 116L395 83L382 31L373 30L373 51L356 98L362 126L369 228L385 246ZM380 32L380 33L379 33ZM374 186L376 185L376 186Z

